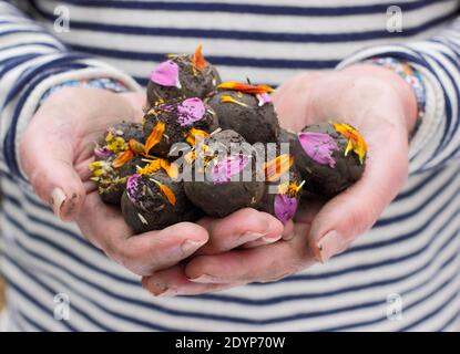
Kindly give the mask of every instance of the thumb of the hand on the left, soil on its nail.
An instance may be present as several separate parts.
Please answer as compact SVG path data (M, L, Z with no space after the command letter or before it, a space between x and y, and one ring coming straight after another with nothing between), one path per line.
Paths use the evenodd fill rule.
M83 205L85 189L73 167L71 129L52 116L35 114L20 143L21 166L37 195L63 221L72 221Z

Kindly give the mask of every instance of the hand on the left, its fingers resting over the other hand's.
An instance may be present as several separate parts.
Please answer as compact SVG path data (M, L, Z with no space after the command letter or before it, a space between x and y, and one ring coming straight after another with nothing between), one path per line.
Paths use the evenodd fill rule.
M203 253L279 239L282 223L252 209L134 235L120 209L101 201L88 168L94 142L110 125L141 122L144 102L141 93L85 87L62 88L43 102L22 136L20 157L37 195L57 216L75 220L95 247L140 275L175 266L206 242Z

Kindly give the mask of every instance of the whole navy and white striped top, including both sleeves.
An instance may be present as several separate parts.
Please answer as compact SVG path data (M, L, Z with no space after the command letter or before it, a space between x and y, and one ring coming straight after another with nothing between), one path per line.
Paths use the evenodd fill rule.
M398 1L403 31L393 33L386 23L395 2L385 0L17 2L0 1L0 244L11 330L460 327L459 1ZM58 4L70 10L70 32L53 31ZM345 253L274 283L154 299L34 196L18 140L48 88L114 77L139 90L164 53L196 43L224 80L273 85L375 55L406 60L422 74L427 113L407 186ZM53 317L57 293L70 296L70 321ZM392 294L401 316L388 316Z

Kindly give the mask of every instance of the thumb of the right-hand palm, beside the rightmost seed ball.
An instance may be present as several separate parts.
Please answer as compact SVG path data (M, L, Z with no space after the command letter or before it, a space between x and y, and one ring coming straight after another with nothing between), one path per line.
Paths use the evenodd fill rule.
M407 135L392 134L379 144L372 143L369 139L361 179L329 200L313 220L309 247L321 262L369 230L407 179Z

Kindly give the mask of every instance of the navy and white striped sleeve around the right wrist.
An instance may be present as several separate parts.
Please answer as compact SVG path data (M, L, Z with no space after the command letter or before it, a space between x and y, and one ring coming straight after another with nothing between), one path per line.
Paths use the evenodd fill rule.
M429 40L367 48L344 60L337 69L380 56L410 63L420 73L426 90L426 111L410 142L409 171L415 174L458 164L460 18Z

